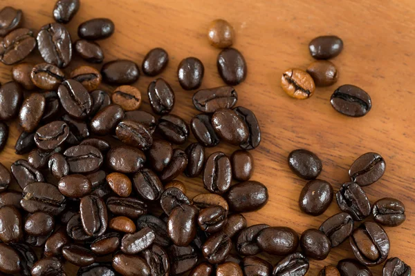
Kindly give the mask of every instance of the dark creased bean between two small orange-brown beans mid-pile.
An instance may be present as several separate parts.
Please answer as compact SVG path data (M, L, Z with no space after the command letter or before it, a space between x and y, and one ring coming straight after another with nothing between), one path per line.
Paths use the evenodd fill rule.
M142 168L133 176L134 188L147 201L158 200L163 193L163 184L152 170Z

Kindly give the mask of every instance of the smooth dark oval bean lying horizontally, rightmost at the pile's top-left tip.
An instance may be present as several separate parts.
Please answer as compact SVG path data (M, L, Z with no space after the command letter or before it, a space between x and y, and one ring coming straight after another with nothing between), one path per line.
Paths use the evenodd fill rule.
M78 36L82 39L97 40L111 37L116 26L111 19L95 18L85 21L78 27Z

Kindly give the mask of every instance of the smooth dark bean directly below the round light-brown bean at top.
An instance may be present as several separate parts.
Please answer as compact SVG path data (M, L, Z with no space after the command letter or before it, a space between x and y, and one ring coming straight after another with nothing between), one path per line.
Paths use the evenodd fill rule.
M245 58L237 49L222 50L216 61L219 75L229 86L237 86L245 81L248 68Z

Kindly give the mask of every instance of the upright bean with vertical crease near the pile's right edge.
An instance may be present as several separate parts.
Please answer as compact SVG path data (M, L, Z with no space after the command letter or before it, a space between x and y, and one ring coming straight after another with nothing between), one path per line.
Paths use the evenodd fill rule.
M225 193L232 182L230 159L223 152L214 152L206 160L203 185L210 193Z

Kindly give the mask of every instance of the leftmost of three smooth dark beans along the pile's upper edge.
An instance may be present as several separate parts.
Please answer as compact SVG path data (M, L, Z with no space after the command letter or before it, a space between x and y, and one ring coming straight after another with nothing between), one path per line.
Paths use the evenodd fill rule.
M169 63L169 55L164 49L151 49L142 61L142 72L147 76L154 77L163 72L167 63Z

